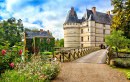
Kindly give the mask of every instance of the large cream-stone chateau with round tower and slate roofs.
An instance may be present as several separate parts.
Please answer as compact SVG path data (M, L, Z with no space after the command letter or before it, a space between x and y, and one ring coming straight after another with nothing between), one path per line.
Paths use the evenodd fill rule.
M113 15L97 12L96 7L86 9L82 19L78 19L72 7L68 12L64 29L64 47L100 46L105 48L106 35L110 35L110 26Z

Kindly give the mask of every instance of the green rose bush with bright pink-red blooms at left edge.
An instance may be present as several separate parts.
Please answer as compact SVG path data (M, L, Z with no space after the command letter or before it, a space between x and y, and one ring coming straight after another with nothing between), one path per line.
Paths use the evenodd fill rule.
M22 61L22 50L20 49L22 49L21 46L10 47L8 41L0 45L0 75L6 69L13 69L17 62Z

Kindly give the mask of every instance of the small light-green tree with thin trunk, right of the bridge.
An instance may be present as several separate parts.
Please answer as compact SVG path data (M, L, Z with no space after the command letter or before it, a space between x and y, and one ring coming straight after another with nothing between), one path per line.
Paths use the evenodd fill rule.
M110 47L114 46L116 48L117 56L118 56L118 49L121 46L127 46L130 43L130 39L127 39L123 36L124 32L121 30L113 30L110 36L105 36L105 44L109 45Z

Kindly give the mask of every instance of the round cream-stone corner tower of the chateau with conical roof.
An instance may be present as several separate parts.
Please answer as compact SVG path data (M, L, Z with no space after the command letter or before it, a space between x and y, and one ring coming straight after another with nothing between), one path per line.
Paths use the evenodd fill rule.
M64 47L80 47L80 23L73 7L68 12L63 29Z

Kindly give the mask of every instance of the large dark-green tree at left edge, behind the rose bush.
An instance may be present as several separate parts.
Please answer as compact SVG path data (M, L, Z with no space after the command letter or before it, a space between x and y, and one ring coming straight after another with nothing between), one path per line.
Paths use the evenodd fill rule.
M16 42L21 42L23 35L23 24L22 20L15 18L9 18L7 21L0 22L0 43L8 41L10 46L13 46Z

